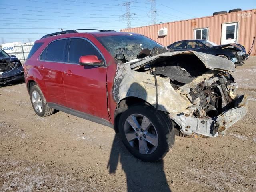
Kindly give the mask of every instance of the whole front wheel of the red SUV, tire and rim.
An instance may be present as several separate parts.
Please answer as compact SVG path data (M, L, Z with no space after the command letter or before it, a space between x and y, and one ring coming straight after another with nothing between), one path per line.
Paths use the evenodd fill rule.
M145 126L147 124L150 125L148 128ZM130 106L121 114L118 127L124 146L142 161L162 159L175 141L174 128L168 115L147 104Z

